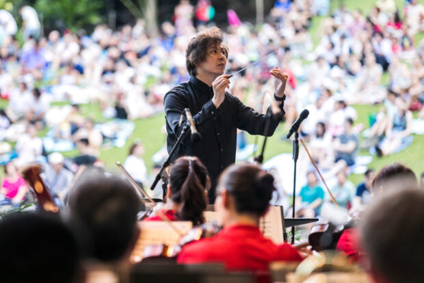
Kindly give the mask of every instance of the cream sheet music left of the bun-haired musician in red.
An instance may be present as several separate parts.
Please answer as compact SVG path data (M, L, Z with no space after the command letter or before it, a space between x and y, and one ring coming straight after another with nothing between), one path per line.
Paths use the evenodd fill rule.
M140 262L143 259L144 247L147 245L177 245L181 236L165 221L139 221L142 231L131 253L131 262ZM172 221L172 224L183 234L187 234L193 227L191 221Z

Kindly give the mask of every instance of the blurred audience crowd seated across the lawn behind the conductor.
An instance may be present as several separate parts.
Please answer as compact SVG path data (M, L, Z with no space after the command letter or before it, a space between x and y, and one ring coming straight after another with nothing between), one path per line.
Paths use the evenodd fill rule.
M210 2L194 7L181 1L174 22L161 23L160 34L148 36L143 20L117 30L97 25L92 34L53 30L44 35L37 11L25 6L19 14L23 42L16 40L14 16L1 10L0 95L8 103L0 110L0 153L1 163L8 164L4 179L15 182L13 189L2 188L5 201L22 200L16 170L29 162L44 164L46 180L59 199L81 165L102 166L99 152L110 137L90 113L81 112L83 106L98 103L105 119L160 113L165 93L189 78L185 48L211 20L199 18L204 7L211 10ZM411 111L424 116L424 42L414 40L424 30L424 7L411 0L399 12L393 0L379 0L363 14L341 5L321 21L321 39L314 48L308 31L315 28L314 17L328 10L329 1L278 0L260 28L228 11L226 72L277 51L232 77L230 93L256 110L265 109L266 94L273 89L269 69L280 66L290 77L285 127L307 108L301 136L319 168L342 180L346 176L339 175L355 166L360 148L382 156L412 143ZM369 117L369 129L355 124L353 103L380 106ZM49 139L40 138L40 131ZM365 137L361 144L360 134ZM243 133L238 146L246 146ZM73 158L57 152L68 149L77 149ZM150 179L143 153L143 145L135 143L126 168L146 185ZM354 202L355 190L349 192L346 206Z

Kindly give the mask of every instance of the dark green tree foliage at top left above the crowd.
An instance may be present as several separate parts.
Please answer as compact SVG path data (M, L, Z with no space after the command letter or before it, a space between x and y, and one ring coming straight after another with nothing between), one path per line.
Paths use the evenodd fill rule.
M35 8L49 29L66 27L72 32L103 22L102 0L37 0Z

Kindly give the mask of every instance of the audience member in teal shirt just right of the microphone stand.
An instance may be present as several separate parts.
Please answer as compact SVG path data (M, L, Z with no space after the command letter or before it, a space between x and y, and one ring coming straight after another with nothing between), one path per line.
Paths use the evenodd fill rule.
M317 175L315 171L309 171L308 184L300 190L299 196L296 198L296 206L301 208L297 212L296 217L304 216L306 218L313 218L321 211L321 205L324 199L324 191L321 186L318 186Z

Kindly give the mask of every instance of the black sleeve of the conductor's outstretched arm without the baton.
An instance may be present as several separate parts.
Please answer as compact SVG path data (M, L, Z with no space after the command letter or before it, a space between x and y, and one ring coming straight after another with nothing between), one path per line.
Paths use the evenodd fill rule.
M252 108L244 105L237 97L234 97L237 108L237 128L247 131L249 134L260 134L263 136L272 136L281 121L281 116L284 115L282 110L283 103L280 105L281 116L276 118L271 112L271 106L267 109L266 114L260 114ZM267 120L271 119L269 123L268 132L265 133L265 125Z

